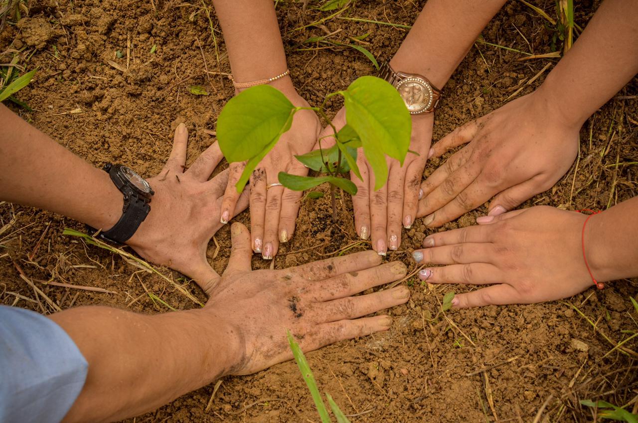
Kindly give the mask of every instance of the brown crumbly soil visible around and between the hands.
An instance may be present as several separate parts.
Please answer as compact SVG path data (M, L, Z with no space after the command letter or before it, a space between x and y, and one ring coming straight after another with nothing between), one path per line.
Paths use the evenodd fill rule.
M211 144L213 139L205 130L214 130L216 116L233 95L227 80L203 72L205 68L230 72L213 10L209 22L202 3L197 2L197 6L163 0L29 3L29 17L17 26L6 27L0 35L4 47L26 46L34 51L27 68L39 66L36 80L19 93L19 98L34 109L15 109L24 119L97 166L107 161L122 162L147 176L157 173L168 157L172 130L180 121L188 123L191 130L191 158ZM302 95L317 105L326 93L373 72L373 66L355 50L297 50L297 43L323 31L293 28L329 15L311 10L312 2L304 11L303 3L279 1L279 22L293 80ZM555 15L552 1L533 3ZM599 2L575 3L575 20L584 27ZM420 0L359 0L346 15L411 24L423 4ZM215 29L215 40L209 23ZM324 24L330 32L343 29L338 36L344 42L346 35L369 33L366 48L380 59L390 58L406 34L397 27L348 20L332 19ZM562 45L560 40L558 47L553 45L553 28L520 2L508 3L483 36L486 41L535 54ZM156 52L151 54L154 45ZM121 58L117 58L117 51L122 52ZM517 52L477 43L445 87L447 95L436 114L434 139L500 107L549 63L547 59L516 61L520 57ZM519 95L537 87L546 74ZM211 95L192 95L189 84L202 85ZM634 79L619 95L635 96L637 91ZM582 128L578 167L572 167L554 188L526 206L604 209L634 196L638 167L605 165L637 160L637 105L635 99L617 99L598 111ZM331 104L330 112L338 107L337 103ZM61 114L74 109L82 112ZM438 164L433 160L426 174ZM306 201L297 232L281 247L274 266L306 263L346 246L352 247L350 252L366 249L367 245L352 244L357 237L350 199L341 199L341 204L339 222L332 224L327 197ZM485 211L481 208L468 213L445 229L473 224L475 217ZM64 227L82 229L77 222L8 203L0 203L0 219L2 304L52 312L42 298L42 305L38 304L33 290L20 279L12 263L16 261L29 277L54 277L57 282L116 292L40 285L63 309L106 304L138 312L166 311L165 306L154 304L145 295L140 281L172 307L193 306L162 279L139 272L119 256L61 235ZM249 224L246 212L238 220ZM389 254L388 259L401 259L413 270L410 252L427 233L429 229L417 221L404 233L401 249ZM228 227L219 231L216 242L219 249L211 243L209 254L219 271L228 261ZM255 268L269 264L259 258L253 260ZM359 414L352 417L352 422L482 422L497 417L499 421L530 422L544 406L542 420L535 421L593 421L579 399L599 397L619 405L634 401L628 408L636 407L635 360L618 351L603 357L612 345L601 334L619 341L628 336L621 331L638 330L637 315L629 301L636 294L637 282L609 283L604 291L589 289L568 300L596 322L594 330L563 302L454 311L447 313L447 319L439 316L429 320L436 316L440 300L450 288L422 286L412 278L405 282L411 287L412 300L390 311L396 321L392 330L309 353L309 363L320 388L330 392L345 413ZM189 289L202 295L194 284ZM638 349L635 340L625 346ZM252 376L226 378L207 408L212 388L209 385L186 394L130 421L319 420L294 362Z

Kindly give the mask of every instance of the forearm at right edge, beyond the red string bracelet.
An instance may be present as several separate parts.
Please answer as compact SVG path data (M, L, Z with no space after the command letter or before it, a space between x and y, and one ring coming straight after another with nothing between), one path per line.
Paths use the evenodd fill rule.
M601 282L638 276L638 197L623 201L586 224L585 251Z

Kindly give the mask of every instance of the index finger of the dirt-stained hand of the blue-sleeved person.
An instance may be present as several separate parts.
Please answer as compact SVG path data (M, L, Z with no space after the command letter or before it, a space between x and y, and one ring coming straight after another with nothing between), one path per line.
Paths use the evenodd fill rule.
M334 257L321 261L314 261L306 265L293 268L293 272L309 281L321 281L341 273L357 272L379 265L382 258L376 252L368 250L348 254L348 256Z

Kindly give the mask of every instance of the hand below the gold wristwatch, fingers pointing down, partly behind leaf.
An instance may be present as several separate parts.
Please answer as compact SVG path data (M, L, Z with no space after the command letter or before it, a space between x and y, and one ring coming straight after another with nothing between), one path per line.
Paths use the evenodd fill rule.
M346 124L345 109L341 109L332 123L341 129ZM375 191L375 174L367 163L363 150L357 151L357 165L363 180L350 172L350 180L357 186L357 195L352 197L355 215L355 230L364 240L370 236L373 249L385 256L388 249L397 250L401 245L401 224L410 228L417 216L420 199L419 184L426 167L427 151L432 141L434 115L419 114L412 116L412 139L410 150L419 155L408 153L403 166L398 160L388 158L388 181L380 190ZM322 148L334 144L331 127L326 127L319 138ZM315 148L319 148L318 144Z

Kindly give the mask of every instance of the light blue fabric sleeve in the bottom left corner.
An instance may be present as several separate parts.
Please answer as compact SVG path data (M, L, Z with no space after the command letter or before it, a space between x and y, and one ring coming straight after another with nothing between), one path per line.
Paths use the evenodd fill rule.
M89 365L51 319L0 305L0 422L60 422Z

